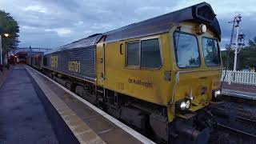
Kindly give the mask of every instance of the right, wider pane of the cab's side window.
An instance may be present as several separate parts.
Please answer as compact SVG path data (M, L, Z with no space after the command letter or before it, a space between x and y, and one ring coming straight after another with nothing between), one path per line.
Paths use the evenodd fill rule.
M162 64L158 38L142 41L142 67L158 68Z

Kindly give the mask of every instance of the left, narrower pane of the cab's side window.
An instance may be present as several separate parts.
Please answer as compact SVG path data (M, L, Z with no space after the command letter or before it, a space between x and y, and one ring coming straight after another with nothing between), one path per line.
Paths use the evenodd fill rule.
M139 42L127 43L127 66L139 66Z

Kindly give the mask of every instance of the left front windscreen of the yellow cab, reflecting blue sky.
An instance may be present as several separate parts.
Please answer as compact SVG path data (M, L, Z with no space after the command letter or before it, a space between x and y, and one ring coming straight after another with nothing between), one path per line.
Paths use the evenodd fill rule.
M200 66L197 38L192 34L174 33L177 65L180 68Z

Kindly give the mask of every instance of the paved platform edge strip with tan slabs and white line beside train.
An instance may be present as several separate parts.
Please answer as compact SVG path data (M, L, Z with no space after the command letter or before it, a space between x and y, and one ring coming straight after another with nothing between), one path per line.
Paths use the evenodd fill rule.
M73 134L74 138L69 139L72 143L154 143L37 70L30 66L23 67L37 86L48 115L55 119L51 121L55 123L54 130L57 129L58 137ZM62 126L59 123L63 123ZM64 130L66 134L61 134L56 125L68 127L68 130Z

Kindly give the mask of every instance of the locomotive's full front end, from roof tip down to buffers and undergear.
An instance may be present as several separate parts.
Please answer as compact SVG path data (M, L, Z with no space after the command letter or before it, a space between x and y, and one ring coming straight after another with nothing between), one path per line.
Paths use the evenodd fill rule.
M176 136L170 136L171 142L177 139L178 142L189 142L187 139L191 139L196 143L206 143L215 124L205 107L221 94L221 35L220 30L212 25L213 19L206 18L215 17L213 11L208 6L202 7L206 14L199 20L181 22L170 30L173 82L170 107L167 108L172 122L169 134L181 135L176 139ZM201 13L200 9L198 13Z

